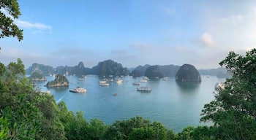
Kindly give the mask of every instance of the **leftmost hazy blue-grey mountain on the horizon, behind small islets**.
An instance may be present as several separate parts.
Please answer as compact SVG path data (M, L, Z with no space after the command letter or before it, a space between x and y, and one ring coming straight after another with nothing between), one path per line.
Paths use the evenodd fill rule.
M32 66L29 67L29 69L26 69L26 74L31 75L34 71L37 71L46 76L54 74L54 69L52 66L45 66L38 63L33 63Z

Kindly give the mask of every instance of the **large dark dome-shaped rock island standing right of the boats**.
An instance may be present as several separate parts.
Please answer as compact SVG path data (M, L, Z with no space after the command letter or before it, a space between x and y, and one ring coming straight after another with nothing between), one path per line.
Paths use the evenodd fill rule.
M176 82L201 82L201 77L195 66L184 64L176 74Z

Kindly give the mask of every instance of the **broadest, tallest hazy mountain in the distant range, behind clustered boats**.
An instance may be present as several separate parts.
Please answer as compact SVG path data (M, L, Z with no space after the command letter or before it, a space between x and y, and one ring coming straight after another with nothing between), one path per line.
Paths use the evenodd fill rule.
M116 63L115 61L108 60L99 62L97 66L94 66L91 69L91 74L96 74L99 77L109 77L112 75L113 77L119 77L121 75L129 74L127 68L124 68L121 63Z

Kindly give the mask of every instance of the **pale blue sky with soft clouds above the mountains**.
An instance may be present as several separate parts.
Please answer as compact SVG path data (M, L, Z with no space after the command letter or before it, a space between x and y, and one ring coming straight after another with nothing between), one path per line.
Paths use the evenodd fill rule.
M256 47L256 1L18 1L23 40L0 39L0 61L86 67L113 60L124 67L219 67L228 52ZM4 12L3 9L1 11Z

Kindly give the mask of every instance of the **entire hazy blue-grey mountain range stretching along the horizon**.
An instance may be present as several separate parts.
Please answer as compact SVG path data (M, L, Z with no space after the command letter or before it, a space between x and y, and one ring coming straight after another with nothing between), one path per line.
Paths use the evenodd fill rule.
M158 66L158 65L157 65ZM129 74L132 77L142 77L145 76L146 69L148 69L150 65L146 64L144 66L137 66L135 69L127 69L124 68L121 63L116 63L115 61L108 60L102 61L94 66L93 68L86 68L83 62L79 62L77 66L57 66L53 69L52 66L45 66L43 64L33 63L29 69L26 69L26 74L31 75L34 71L39 72L45 76L53 75L53 74L66 74L72 75L75 74L78 77L81 77L86 74L96 74L99 77L108 77L109 75L113 75L113 77L127 75ZM176 77L178 69L180 66L175 65L164 65L158 66L160 73L163 77ZM131 72L132 71L132 72ZM130 72L130 73L129 73ZM201 75L214 75L219 78L227 78L230 77L230 74L227 73L225 68L218 69L200 69L199 73Z

